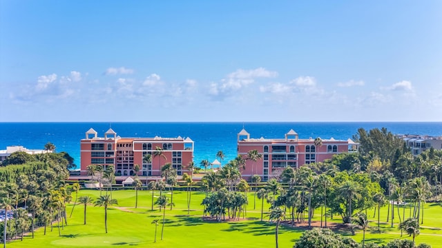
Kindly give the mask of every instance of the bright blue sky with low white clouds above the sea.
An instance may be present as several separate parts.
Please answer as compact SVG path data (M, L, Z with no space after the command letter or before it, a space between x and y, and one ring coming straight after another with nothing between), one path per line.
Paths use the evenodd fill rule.
M0 1L0 121L442 121L442 1Z

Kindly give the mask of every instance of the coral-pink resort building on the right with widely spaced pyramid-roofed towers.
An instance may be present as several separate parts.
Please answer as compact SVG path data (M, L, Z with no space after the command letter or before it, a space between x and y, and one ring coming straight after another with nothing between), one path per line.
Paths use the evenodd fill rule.
M262 159L251 161L246 159L242 177L250 180L257 174L262 180L268 180L285 167L298 168L309 163L322 162L332 158L334 154L357 151L358 144L351 139L346 141L334 138L321 139L321 144L314 138L301 139L294 130L285 134L285 138L250 138L250 134L242 129L238 134L238 155L244 159L251 150L258 150Z

